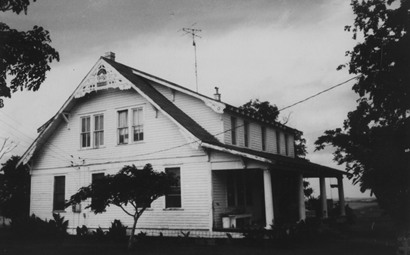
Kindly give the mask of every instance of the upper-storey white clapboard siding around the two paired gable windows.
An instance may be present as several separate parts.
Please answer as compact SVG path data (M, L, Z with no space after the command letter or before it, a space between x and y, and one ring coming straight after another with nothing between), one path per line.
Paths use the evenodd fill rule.
M202 151L192 149L187 144L178 127L155 109L144 98L132 90L113 90L98 92L78 100L70 111L69 128L62 122L49 137L42 153L35 159L36 168L50 168L74 163L96 163L132 159L142 155L147 160L179 155L203 155ZM117 145L117 112L137 106L144 107L144 141L127 145ZM99 149L80 148L81 116L104 114L104 146ZM130 118L131 116L129 116ZM131 139L131 136L130 136ZM180 146L177 149L171 149Z

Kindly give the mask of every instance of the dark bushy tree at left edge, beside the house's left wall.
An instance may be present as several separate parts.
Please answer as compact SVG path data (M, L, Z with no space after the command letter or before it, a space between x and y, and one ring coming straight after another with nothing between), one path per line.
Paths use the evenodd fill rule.
M0 211L12 220L28 217L30 208L30 172L25 165L16 168L19 160L12 156L0 169Z

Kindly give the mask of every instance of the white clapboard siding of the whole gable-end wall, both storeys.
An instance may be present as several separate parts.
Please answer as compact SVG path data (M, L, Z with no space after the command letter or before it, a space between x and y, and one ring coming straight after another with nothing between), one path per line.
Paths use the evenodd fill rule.
M66 199L69 199L80 187L91 182L92 173L115 174L126 164L143 167L151 163L159 171L166 167L181 168L182 208L165 210L165 200L160 198L144 213L139 227L210 229L210 163L202 149L187 144L189 140L175 123L133 90L109 89L86 95L75 103L69 111L69 123L61 120L33 158L32 213L40 218L52 217L54 176L66 176ZM144 141L117 145L118 110L139 106L144 107ZM202 106L212 111L205 104ZM100 113L104 114L104 146L81 149L81 116ZM89 202L81 204L81 213L74 213L71 208L62 213L70 221L71 228L82 225L107 228L114 219L132 225L131 217L119 208L110 207L106 213L94 215L84 209Z

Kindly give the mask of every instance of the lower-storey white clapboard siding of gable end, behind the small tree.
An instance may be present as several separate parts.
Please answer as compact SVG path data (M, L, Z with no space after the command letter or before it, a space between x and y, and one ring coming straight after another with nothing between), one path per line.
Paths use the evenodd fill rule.
M210 229L211 180L209 162L207 162L206 157L200 158L199 162L192 162L192 160L187 162L178 165L170 162L172 164L162 167L159 167L157 164L154 166L154 169L159 171L163 171L166 167L180 167L182 208L175 210L166 209L165 199L161 197L151 205L150 209L144 212L138 222L139 228ZM134 163L136 165L141 164L141 162ZM92 173L105 172L108 174L116 172L120 168L118 164L107 167L112 167L113 169L94 171L82 167L78 171L70 171L70 173L66 174L66 199L81 186L88 185L91 182ZM57 175L61 175L61 173L57 173ZM52 174L42 174L35 175L32 179L32 213L43 219L52 217L53 178L54 175ZM89 202L82 202L81 213L74 213L71 208L67 208L66 212L61 213L65 219L69 220L70 228L82 225L87 225L89 228L108 228L114 219L120 219L124 225L132 225L132 218L121 209L111 206L105 213L95 215L89 209L84 209Z

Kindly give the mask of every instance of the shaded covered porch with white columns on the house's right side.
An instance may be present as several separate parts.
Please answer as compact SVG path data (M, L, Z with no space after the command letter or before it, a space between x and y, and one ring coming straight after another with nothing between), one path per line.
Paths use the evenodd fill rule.
M320 183L318 217L329 215L326 182L336 185L340 215L345 215L342 171L307 160L274 155L275 161L230 157L212 161L213 230L235 230L249 226L270 229L278 222L298 222L307 217L303 180L317 178Z

